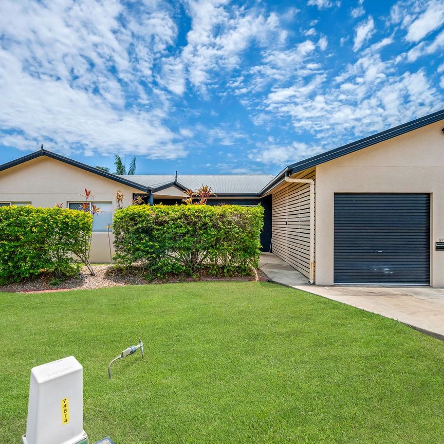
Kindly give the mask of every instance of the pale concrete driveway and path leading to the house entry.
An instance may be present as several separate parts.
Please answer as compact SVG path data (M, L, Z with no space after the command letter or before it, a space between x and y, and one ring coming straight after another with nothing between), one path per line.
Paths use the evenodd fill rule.
M444 340L444 288L308 285L280 258L263 255L260 268L272 282L378 313Z

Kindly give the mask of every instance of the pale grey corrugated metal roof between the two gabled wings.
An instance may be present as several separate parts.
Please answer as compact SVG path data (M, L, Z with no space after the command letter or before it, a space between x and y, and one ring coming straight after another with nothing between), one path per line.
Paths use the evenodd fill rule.
M120 176L150 187L153 192L176 186L181 190L197 190L203 185L212 188L217 196L242 195L258 197L259 191L273 176L269 174L178 174Z

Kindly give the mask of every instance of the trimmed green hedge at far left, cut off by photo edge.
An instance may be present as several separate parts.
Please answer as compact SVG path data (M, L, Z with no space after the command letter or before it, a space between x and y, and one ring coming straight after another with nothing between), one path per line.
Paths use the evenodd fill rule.
M79 270L73 256L89 249L93 216L61 208L0 207L0 284L48 272Z

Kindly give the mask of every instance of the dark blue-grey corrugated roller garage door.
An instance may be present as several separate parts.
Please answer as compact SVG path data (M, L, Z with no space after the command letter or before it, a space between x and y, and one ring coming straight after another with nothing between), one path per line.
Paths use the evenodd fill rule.
M429 194L335 194L335 283L430 283Z

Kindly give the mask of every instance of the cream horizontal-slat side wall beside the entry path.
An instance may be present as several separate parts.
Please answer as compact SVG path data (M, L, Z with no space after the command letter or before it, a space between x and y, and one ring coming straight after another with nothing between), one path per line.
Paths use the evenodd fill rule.
M299 179L315 180L316 171L302 172ZM310 277L310 185L283 182L272 194L272 252Z

